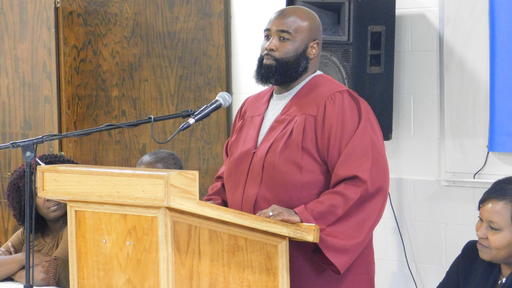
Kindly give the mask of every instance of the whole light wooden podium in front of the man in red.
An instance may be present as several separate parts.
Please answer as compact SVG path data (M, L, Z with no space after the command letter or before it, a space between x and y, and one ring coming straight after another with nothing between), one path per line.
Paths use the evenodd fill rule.
M70 287L289 287L287 224L198 199L198 172L39 166L38 195L68 204Z

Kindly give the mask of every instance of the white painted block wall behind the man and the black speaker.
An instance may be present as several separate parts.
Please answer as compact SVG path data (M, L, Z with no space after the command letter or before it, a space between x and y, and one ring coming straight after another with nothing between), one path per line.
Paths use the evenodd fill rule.
M396 5L394 130L386 142L391 197L418 287L430 288L475 238L476 205L490 182L470 179L487 143L487 1ZM285 0L231 1L233 115L262 89L253 75L263 28L285 6ZM510 155L491 154L481 177L511 171ZM376 286L414 287L389 204L374 244Z

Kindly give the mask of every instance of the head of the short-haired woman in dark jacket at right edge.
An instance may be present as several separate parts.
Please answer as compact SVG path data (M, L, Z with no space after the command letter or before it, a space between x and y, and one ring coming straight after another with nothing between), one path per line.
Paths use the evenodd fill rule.
M512 177L494 182L478 202L476 223L480 258L512 265Z

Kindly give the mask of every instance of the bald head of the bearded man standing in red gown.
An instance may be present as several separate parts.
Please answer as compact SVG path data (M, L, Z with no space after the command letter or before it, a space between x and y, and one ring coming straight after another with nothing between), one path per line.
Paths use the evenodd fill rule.
M289 6L277 11L263 33L256 81L293 87L319 66L322 25L312 10Z

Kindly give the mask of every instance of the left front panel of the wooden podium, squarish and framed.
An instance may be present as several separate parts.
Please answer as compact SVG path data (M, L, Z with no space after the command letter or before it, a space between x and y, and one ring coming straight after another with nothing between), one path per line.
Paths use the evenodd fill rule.
M71 287L169 287L165 211L69 203Z

